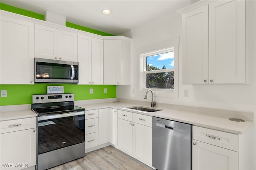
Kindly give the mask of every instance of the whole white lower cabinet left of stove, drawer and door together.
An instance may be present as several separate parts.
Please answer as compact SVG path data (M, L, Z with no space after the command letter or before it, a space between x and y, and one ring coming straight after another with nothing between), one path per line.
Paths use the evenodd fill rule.
M12 169L11 166L16 167L15 169L35 166L36 117L2 121L0 148L2 169Z

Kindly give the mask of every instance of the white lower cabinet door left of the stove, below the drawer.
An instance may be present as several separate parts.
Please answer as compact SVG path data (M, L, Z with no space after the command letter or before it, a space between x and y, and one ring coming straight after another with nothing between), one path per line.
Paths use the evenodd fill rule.
M36 128L0 134L1 166L20 163L26 167L36 165Z

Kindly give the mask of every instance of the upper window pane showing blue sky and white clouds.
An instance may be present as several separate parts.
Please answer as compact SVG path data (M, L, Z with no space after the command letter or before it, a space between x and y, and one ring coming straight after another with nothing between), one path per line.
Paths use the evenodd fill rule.
M147 70L173 69L174 51L146 57Z

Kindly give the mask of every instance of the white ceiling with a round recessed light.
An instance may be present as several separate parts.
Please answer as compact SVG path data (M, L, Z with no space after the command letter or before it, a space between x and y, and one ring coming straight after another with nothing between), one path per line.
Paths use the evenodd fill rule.
M197 0L1 0L2 3L45 14L66 16L67 22L102 32L121 35L171 11L177 11ZM110 15L101 13L107 8Z

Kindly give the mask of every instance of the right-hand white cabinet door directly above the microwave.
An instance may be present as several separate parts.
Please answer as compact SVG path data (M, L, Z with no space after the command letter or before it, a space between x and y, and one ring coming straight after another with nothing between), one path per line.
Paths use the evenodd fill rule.
M64 61L78 61L78 34L58 30L58 59Z

